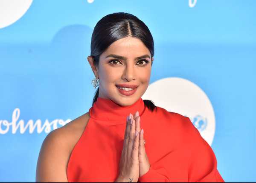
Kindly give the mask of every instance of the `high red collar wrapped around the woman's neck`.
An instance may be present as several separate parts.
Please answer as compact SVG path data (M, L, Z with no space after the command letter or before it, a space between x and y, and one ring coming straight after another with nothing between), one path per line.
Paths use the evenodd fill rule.
M140 97L130 106L120 106L113 100L98 97L89 110L90 117L110 125L126 123L126 117L139 111L142 116L145 111L143 99Z

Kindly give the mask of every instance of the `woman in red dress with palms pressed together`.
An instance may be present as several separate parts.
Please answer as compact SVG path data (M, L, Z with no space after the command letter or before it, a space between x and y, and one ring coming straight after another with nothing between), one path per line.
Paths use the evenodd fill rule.
M99 85L93 106L47 135L37 181L224 182L189 118L142 100L153 56L153 37L137 17L99 20L87 58Z

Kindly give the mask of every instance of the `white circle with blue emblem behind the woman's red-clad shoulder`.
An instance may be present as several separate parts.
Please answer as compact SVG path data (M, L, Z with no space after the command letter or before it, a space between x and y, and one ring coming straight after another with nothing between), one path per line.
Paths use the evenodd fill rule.
M204 91L189 80L168 77L148 86L142 98L169 112L189 117L201 136L211 146L215 134L215 114Z

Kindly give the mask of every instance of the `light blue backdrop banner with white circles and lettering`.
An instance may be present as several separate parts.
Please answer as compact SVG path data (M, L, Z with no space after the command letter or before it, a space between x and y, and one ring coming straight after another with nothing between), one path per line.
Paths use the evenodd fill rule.
M255 9L254 0L0 0L0 181L35 181L47 134L88 112L90 39L113 12L153 35L142 98L188 116L226 182L256 181Z

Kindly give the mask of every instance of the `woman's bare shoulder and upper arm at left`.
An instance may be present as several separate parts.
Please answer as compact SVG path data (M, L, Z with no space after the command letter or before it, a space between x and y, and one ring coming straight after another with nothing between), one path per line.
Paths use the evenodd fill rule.
M89 118L87 112L45 137L38 156L36 182L67 182L70 154L84 132Z

